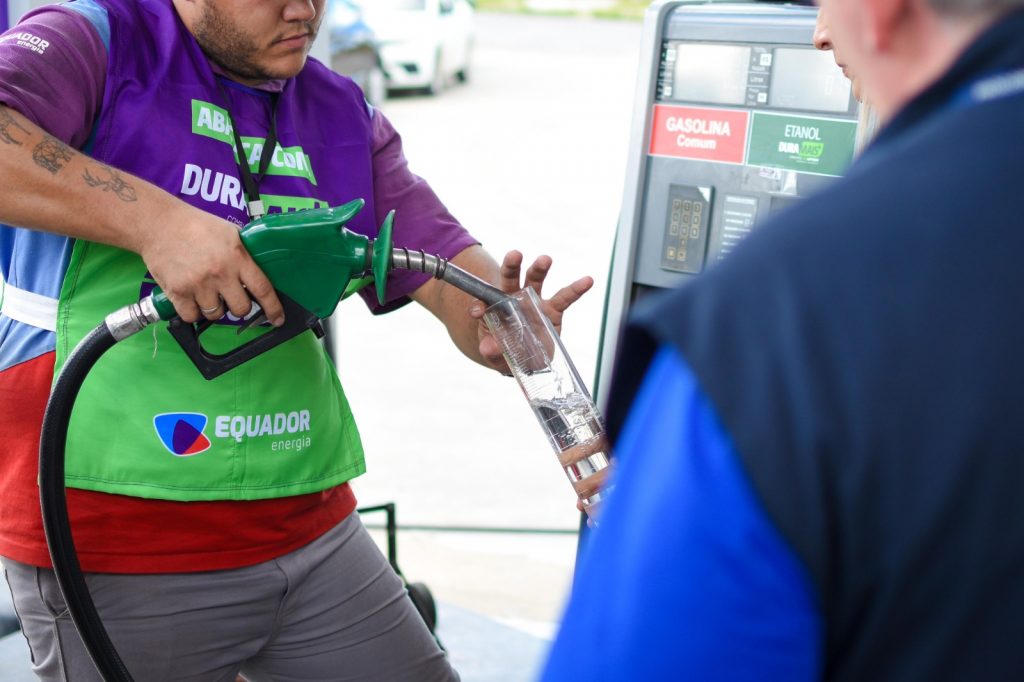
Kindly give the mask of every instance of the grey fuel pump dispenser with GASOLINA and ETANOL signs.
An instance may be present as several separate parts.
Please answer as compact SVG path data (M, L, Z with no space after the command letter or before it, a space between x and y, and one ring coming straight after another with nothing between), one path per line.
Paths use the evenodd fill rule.
M644 18L626 189L598 359L605 402L640 297L728 258L765 216L841 175L859 104L811 44L814 7L654 3Z

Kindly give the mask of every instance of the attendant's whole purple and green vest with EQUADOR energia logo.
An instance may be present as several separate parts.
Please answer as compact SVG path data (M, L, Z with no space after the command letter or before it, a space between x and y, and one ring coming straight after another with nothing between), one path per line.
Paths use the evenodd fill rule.
M218 87L170 0L101 1L111 45L92 156L244 224L231 120L252 166L267 134L270 95L233 82ZM276 118L280 145L260 183L268 211L360 198L368 206L347 226L376 236L371 120L358 88L308 62L285 84ZM146 286L136 254L77 241L60 291L57 366L103 315ZM70 486L179 501L255 500L326 489L365 470L348 401L312 334L207 382L166 329L156 329L154 337L119 343L89 374L72 418ZM216 352L245 340L223 324L204 334Z

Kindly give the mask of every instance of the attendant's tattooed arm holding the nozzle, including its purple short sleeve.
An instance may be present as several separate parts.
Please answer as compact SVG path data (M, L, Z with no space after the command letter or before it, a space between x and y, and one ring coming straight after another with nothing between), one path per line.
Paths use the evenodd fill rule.
M188 322L221 298L234 314L249 312L243 284L271 319L280 315L233 225L75 151L89 139L106 81L106 17L87 9L46 5L0 37L0 221L139 253ZM24 33L46 49L19 41Z

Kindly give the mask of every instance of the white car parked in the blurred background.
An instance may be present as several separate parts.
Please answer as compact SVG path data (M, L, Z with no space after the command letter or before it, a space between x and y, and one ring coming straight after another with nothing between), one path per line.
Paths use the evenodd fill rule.
M436 94L469 77L469 0L364 0L362 9L379 41L389 90Z

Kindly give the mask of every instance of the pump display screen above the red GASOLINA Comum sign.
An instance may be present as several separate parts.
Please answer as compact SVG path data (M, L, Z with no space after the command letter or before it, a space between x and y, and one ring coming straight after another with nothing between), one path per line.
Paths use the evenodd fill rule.
M674 99L734 105L746 101L750 47L677 43L674 57Z

